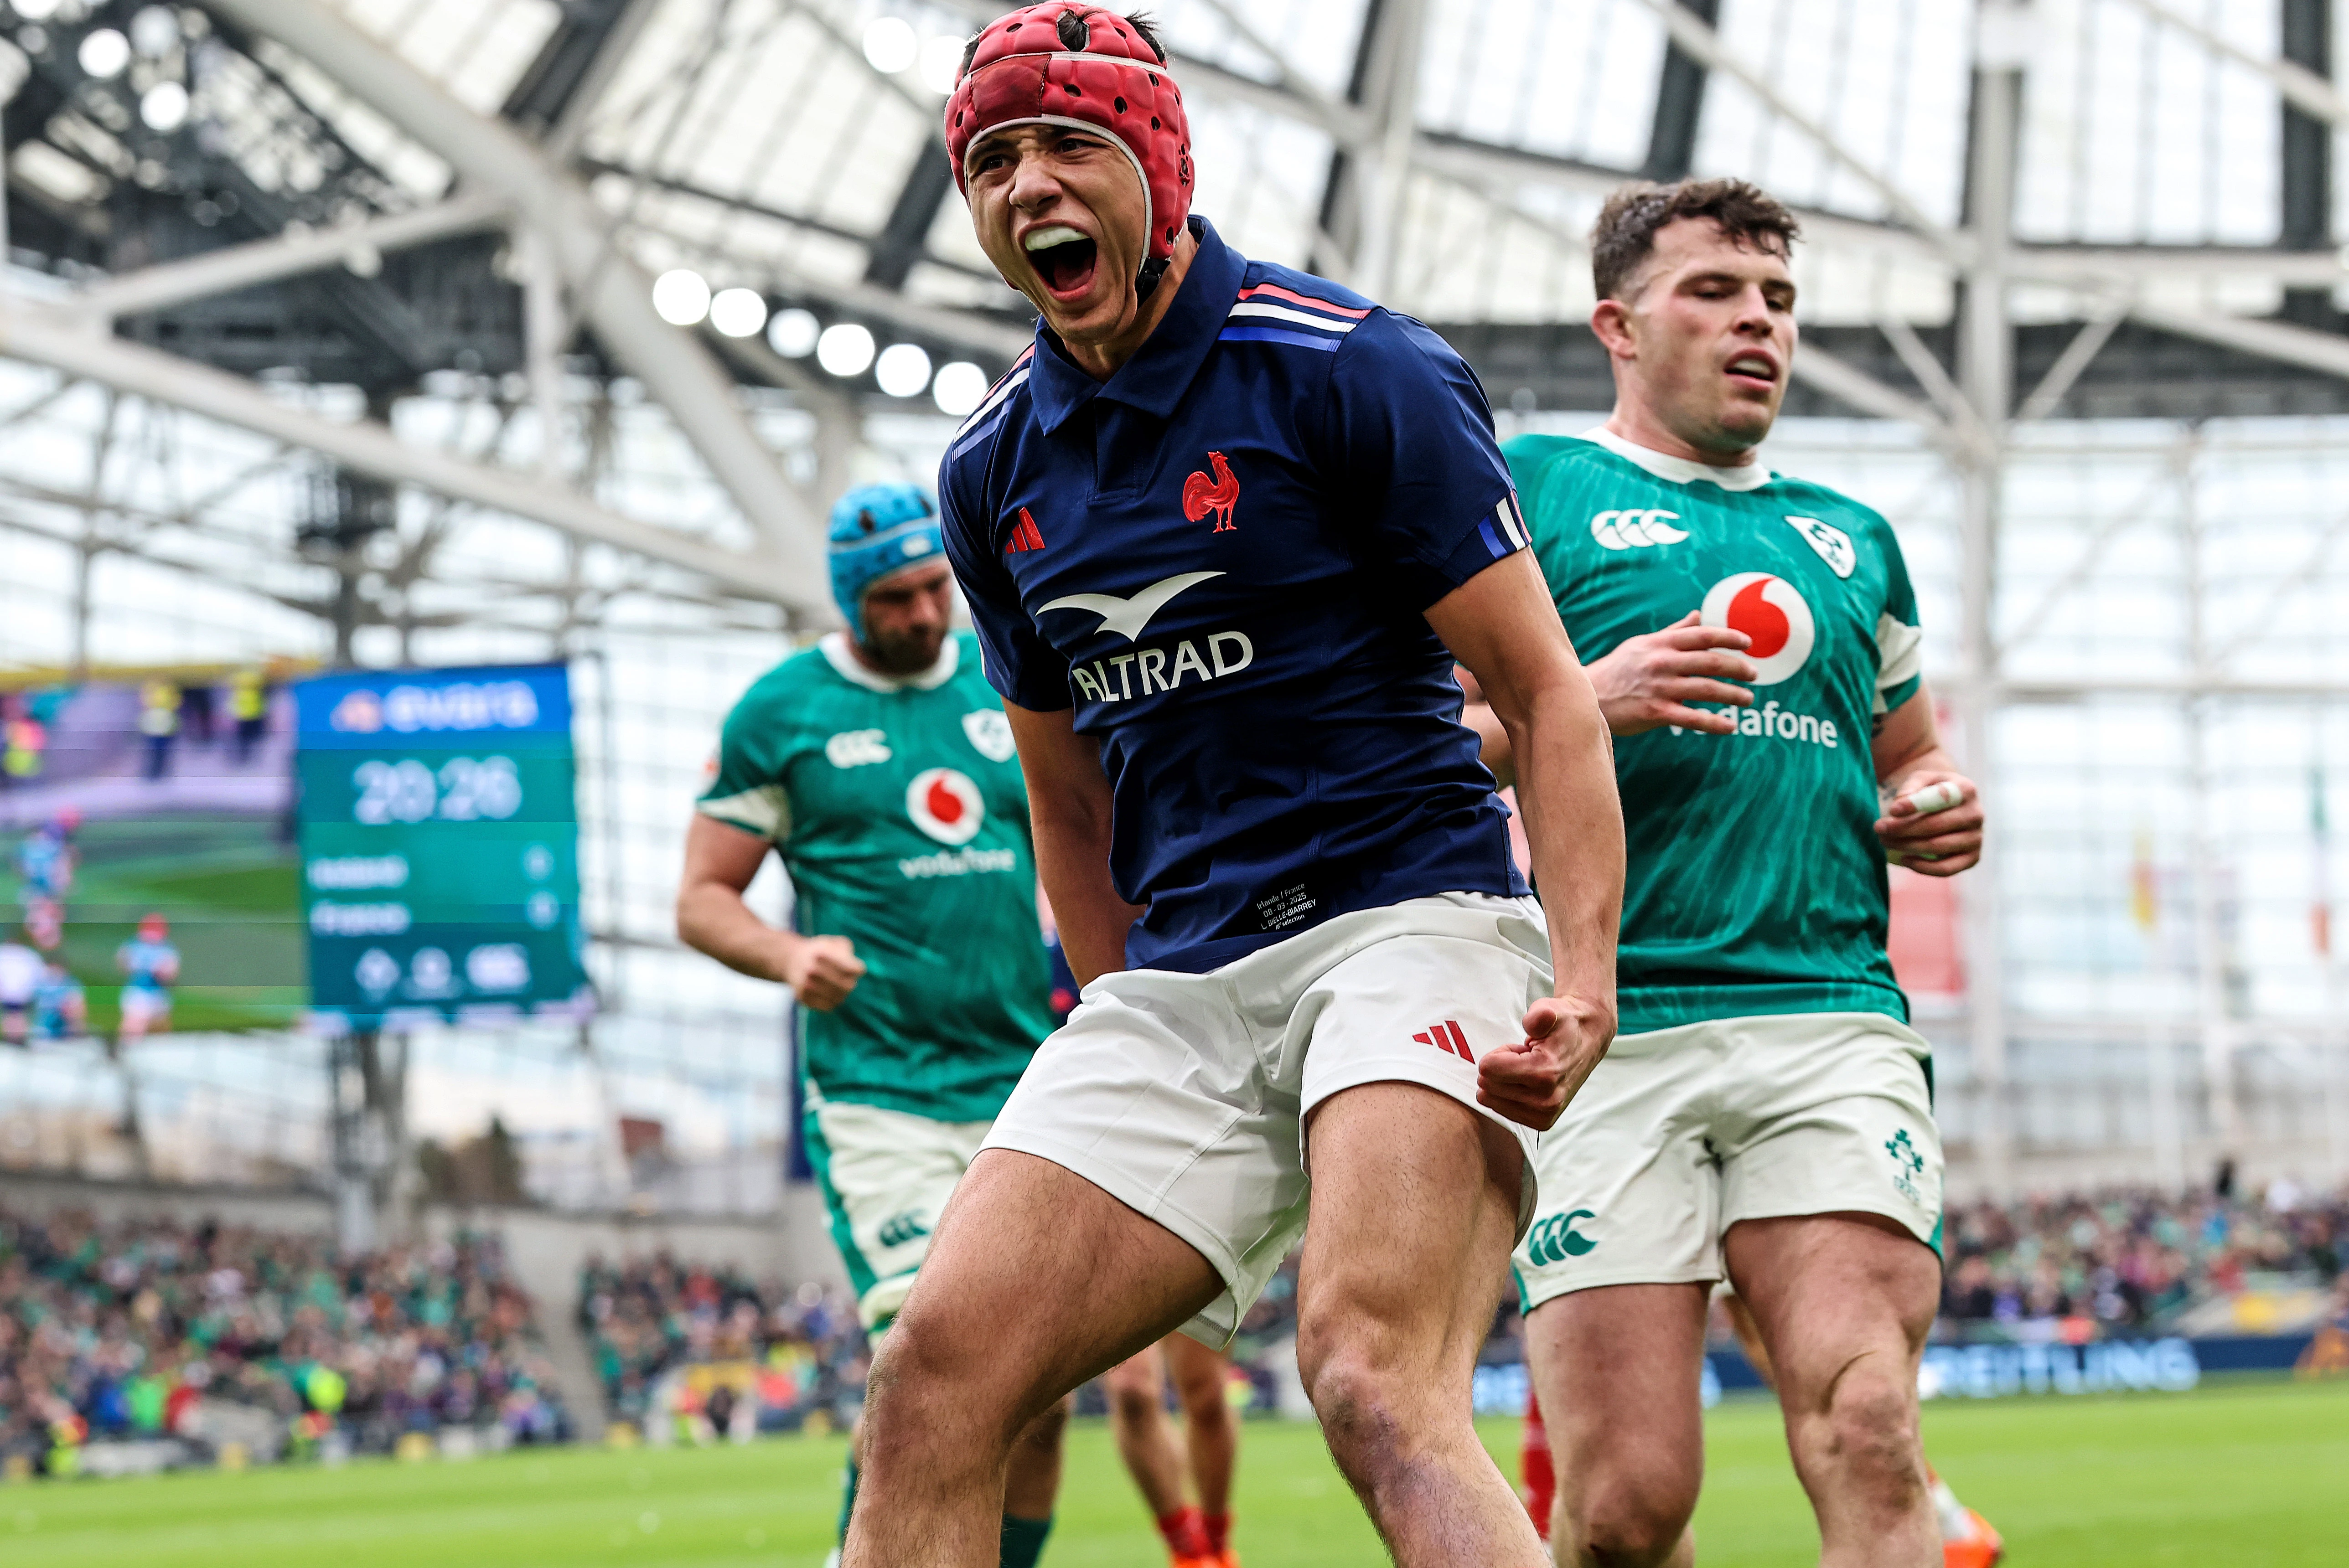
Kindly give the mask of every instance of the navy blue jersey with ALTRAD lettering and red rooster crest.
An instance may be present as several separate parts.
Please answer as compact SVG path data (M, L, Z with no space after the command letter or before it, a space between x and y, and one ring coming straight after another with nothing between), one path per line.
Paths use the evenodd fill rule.
M1525 547L1442 338L1191 218L1198 256L1106 383L1038 324L940 472L987 678L1076 709L1113 791L1137 969L1332 915L1522 894L1508 810L1423 610Z

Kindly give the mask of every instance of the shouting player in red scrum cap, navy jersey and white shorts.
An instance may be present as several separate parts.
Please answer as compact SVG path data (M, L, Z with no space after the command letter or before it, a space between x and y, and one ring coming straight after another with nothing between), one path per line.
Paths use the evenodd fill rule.
M1226 1343L1301 1237L1299 1371L1395 1561L1534 1568L1468 1385L1534 1131L1614 1033L1623 836L1485 397L1189 216L1146 23L989 23L947 150L1043 312L940 505L1085 988L881 1347L846 1563L994 1561L1015 1434L1167 1331Z

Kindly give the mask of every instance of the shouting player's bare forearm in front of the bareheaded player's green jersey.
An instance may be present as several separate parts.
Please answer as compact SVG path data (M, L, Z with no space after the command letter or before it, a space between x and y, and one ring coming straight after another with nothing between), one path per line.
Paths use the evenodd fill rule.
M1517 810L1550 922L1557 995L1604 1005L1611 1016L1623 805L1607 718L1576 669L1536 690L1522 714L1501 714L1501 723L1517 758Z

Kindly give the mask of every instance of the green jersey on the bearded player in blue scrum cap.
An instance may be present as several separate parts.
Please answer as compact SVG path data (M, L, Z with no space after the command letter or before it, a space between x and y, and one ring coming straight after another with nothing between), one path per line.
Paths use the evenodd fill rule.
M799 1009L817 1094L987 1122L1052 1030L1027 786L968 631L890 678L841 634L761 676L726 716L700 810L775 843L794 925L848 937L864 976Z

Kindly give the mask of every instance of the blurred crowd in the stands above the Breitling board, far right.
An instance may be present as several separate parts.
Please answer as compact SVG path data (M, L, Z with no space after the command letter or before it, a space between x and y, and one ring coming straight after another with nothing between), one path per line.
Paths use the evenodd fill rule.
M2255 1284L2333 1286L2349 1249L2349 1190L2290 1181L2236 1195L2032 1197L1952 1207L1943 1319L1952 1326L2072 1322L2159 1329L2194 1303Z

